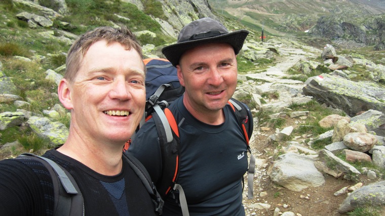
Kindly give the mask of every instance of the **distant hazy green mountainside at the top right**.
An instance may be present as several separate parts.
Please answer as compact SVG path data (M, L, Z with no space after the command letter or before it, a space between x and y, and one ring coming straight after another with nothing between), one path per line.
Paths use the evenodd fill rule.
M330 40L344 38L385 48L384 1L234 1L211 0L247 26L264 28L265 35L301 34ZM303 34L301 34L303 35Z

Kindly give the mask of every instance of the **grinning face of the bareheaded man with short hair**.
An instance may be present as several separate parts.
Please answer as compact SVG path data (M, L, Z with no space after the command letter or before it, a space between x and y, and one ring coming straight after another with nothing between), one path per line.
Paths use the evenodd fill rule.
M84 139L126 141L142 117L145 105L144 65L134 49L118 42L91 45L73 84L61 99L71 109L71 128ZM60 89L60 87L59 87ZM59 90L60 94L60 90Z

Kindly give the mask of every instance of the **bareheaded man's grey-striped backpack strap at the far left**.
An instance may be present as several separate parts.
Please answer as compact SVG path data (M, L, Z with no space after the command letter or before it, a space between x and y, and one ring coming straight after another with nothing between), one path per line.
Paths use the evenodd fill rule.
M18 157L38 160L48 169L54 186L54 215L84 215L83 195L70 173L46 157L32 153L22 153Z

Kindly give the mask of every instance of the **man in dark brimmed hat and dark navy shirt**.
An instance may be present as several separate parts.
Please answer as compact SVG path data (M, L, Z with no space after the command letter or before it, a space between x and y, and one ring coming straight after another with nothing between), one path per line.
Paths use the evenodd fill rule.
M245 215L242 178L247 147L237 116L226 105L237 87L237 54L246 30L228 32L211 18L193 21L162 52L185 87L170 106L180 137L179 176L190 215ZM147 121L129 148L160 184L162 153L155 123ZM179 194L165 198L163 215L182 215ZM184 209L185 210L185 209ZM185 215L185 211L183 211Z

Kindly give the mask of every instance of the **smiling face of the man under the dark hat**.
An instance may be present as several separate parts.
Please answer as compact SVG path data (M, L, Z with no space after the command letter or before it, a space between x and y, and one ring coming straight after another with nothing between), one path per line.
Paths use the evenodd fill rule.
M234 48L227 43L209 43L187 50L177 70L190 112L221 110L237 87L237 59Z

